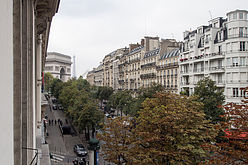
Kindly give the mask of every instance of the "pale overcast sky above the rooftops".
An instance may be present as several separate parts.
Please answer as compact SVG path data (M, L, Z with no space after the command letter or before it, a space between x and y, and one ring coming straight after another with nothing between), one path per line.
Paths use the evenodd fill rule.
M76 74L144 36L182 41L185 30L248 8L248 0L61 0L48 51L76 56Z

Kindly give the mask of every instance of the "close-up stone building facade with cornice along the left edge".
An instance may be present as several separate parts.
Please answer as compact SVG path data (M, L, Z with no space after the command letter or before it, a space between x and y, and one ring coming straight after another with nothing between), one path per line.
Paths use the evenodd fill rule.
M41 72L59 0L0 1L0 162L26 165L41 147ZM39 155L42 152L39 150Z

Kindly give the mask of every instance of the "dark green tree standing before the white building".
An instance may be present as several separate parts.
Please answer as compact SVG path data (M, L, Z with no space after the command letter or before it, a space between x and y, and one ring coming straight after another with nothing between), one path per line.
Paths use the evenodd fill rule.
M213 123L223 121L220 116L224 114L221 105L224 103L225 96L213 80L208 77L200 80L195 87L194 95L198 96L198 101L204 104L206 119L210 119Z

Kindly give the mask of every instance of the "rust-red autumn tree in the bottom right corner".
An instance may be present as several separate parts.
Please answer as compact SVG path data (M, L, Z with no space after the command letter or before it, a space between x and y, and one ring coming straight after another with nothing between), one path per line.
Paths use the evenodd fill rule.
M246 88L246 92L248 88ZM247 99L247 98L246 98ZM220 129L225 132L225 141L216 143L214 164L248 164L248 101L242 104L224 105L225 121Z

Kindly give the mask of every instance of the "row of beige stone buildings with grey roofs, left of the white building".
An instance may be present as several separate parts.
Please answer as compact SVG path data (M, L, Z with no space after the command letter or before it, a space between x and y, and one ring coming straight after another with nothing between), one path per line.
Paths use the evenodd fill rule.
M118 49L105 56L99 69L87 77L91 82L94 77L96 86L109 86L114 90L136 91L161 84L167 91L177 93L178 56L176 40L145 37L141 43L130 44L129 49Z

